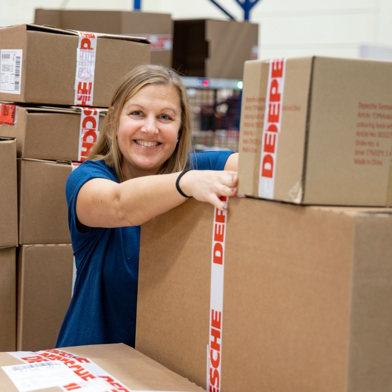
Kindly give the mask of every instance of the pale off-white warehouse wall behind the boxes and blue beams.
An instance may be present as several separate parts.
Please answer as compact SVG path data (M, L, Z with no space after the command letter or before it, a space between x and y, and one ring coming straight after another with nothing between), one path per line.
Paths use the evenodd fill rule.
M218 3L236 20L244 20L236 0ZM0 26L32 23L39 7L133 10L133 6L133 0L3 0ZM170 13L172 19L228 19L210 0L141 0L141 9ZM390 0L260 0L249 20L260 24L262 59L315 54L392 59L391 18Z

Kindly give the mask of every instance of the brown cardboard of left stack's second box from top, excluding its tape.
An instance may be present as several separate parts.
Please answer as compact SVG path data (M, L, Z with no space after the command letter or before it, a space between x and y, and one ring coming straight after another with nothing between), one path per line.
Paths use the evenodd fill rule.
M100 109L98 131L106 110ZM42 160L78 160L80 108L16 106L15 124L0 123L0 137L17 138L17 155Z

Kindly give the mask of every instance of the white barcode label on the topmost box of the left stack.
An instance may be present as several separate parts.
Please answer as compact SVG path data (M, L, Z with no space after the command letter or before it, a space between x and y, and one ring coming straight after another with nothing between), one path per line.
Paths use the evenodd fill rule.
M0 50L0 93L21 94L22 49Z

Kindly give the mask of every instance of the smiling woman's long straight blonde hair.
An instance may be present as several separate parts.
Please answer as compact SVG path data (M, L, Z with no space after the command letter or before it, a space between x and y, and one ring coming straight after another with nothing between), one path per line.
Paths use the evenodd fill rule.
M181 104L181 124L178 133L178 143L170 158L162 165L158 174L180 172L184 170L188 154L192 149L191 118L188 95L178 73L173 69L155 64L142 64L134 68L123 77L110 102L109 110L105 116L103 130L97 142L91 148L88 159L103 160L116 173L118 179L123 181L121 172L122 153L117 142L117 129L120 114L125 102L132 98L147 84L172 85L177 89Z

